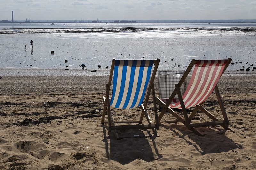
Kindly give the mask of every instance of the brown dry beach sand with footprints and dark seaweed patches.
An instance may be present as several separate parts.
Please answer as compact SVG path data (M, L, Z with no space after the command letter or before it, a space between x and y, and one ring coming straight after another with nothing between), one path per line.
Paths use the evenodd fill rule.
M199 137L181 123L160 124L160 137L121 140L100 124L108 77L2 76L0 169L255 169L256 74L250 73L223 75L218 83L236 133ZM155 85L157 91L157 79ZM219 114L214 95L204 107ZM152 102L148 109L154 119ZM111 110L119 119L140 115L139 108Z

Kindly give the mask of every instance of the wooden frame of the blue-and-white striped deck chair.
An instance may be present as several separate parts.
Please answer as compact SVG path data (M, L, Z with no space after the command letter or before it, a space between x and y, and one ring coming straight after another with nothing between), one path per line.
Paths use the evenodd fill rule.
M115 59L112 60L112 65L111 65L111 70L110 70L110 76L108 83L106 84L106 97L102 97L102 100L104 102L104 109L102 113L102 118L101 118L101 124L108 123L108 131L113 131L115 134L116 139L122 139L126 137L159 137L158 133L156 130L159 129L159 123L158 123L158 115L157 115L157 107L156 107L156 94L155 94L155 87L154 87L154 79L156 76L156 71L159 65L160 60L156 59L154 60L154 70L150 79L150 82L148 84L148 91L146 94L146 98L144 100L144 103L140 105L141 108L141 115L140 115L140 120L139 121L114 121L113 117L110 112L110 100L109 100L109 92L110 92L110 86L112 82L112 77L113 77L113 72L114 72L114 67L115 67ZM153 97L153 104L154 104L154 115L155 115L155 124L152 124L152 121L150 117L148 116L148 113L146 111L147 105L148 105L148 100L150 93L152 92L152 97ZM145 97L145 96L144 96ZM108 114L108 121L104 121L106 112ZM148 124L142 124L143 118L146 118ZM116 125L116 123L129 123L130 125ZM135 124L134 124L135 123ZM132 125L131 125L132 124ZM152 129L153 134L144 134L144 135L119 135L117 133L117 130L121 129Z

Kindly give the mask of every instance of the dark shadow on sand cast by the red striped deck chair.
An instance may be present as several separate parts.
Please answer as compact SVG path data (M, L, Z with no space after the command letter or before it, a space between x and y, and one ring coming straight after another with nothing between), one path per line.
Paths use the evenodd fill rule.
M159 126L172 131L176 136L184 139L189 145L193 145L195 149L202 155L208 153L228 152L236 148L242 149L241 144L235 143L232 139L228 138L224 134L207 134L204 137L200 137L194 134L191 130L188 130L185 125L166 125L160 123ZM188 136L192 142L185 139L185 136Z

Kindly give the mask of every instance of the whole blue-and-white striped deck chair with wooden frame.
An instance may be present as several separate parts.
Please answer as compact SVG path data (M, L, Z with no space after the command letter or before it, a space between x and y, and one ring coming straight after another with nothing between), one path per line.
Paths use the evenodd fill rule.
M106 97L102 97L104 102L104 109L101 119L101 124L108 123L108 131L113 131L116 139L126 137L152 137L159 136L157 131L159 129L156 96L154 88L154 79L159 65L159 59L156 60L115 60L113 59L110 76L106 84ZM154 66L151 75L152 67ZM110 86L113 77L112 97L109 98ZM150 82L149 82L150 80ZM146 89L147 94L145 98ZM152 124L150 117L146 111L150 93L152 92L155 124ZM145 100L144 100L145 98ZM144 103L143 103L144 100ZM130 109L134 107L141 108L141 115L139 121L114 121L110 113L110 107L119 109ZM105 114L108 114L108 121L104 121ZM147 124L143 124L143 118L146 118ZM126 123L126 124L124 124ZM127 125L127 123L129 125ZM118 124L118 125L117 125ZM126 129L152 129L153 133L138 134L138 135L119 135L118 130Z

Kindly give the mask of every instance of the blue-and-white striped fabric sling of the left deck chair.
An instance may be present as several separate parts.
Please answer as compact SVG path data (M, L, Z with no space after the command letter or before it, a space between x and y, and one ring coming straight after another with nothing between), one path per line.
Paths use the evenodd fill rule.
M116 60L110 106L133 108L142 104L154 60Z

